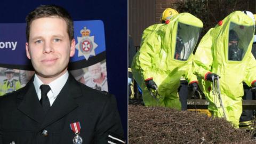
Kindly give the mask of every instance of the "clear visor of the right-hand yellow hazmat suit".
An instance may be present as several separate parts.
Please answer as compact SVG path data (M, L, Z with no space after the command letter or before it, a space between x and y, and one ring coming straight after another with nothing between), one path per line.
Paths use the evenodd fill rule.
M228 60L242 61L253 37L253 26L230 22L228 34Z

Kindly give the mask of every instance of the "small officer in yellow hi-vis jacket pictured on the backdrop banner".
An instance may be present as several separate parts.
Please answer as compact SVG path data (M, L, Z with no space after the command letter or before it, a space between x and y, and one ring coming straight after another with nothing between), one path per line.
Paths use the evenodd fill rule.
M21 84L19 80L14 79L14 70L7 68L4 72L6 79L4 79L4 83L0 89L0 95L4 95L5 93L13 92L20 89Z

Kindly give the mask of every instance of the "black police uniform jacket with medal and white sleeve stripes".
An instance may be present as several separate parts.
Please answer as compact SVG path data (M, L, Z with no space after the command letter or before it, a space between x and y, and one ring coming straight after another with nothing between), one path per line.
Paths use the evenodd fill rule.
M69 74L50 110L44 113L34 77L0 98L0 143L73 143L70 123L80 122L84 143L124 143L115 97L93 90Z

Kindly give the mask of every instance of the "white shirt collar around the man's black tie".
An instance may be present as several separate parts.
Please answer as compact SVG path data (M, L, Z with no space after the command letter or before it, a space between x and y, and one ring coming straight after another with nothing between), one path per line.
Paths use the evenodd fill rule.
M52 106L54 100L57 98L58 94L60 93L63 86L66 84L68 80L68 71L66 71L65 74L60 76L59 78L52 81L50 84L48 84L51 87L51 90L47 93L47 97L49 98L50 105ZM43 84L41 79L38 78L38 76L35 74L34 78L34 86L36 89L37 97L40 100L41 99L41 89L40 86Z

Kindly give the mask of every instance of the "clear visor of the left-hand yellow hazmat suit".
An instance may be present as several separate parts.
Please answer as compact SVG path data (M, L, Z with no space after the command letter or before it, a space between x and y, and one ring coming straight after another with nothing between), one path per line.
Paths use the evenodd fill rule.
M186 61L194 51L202 28L178 23L174 59Z

